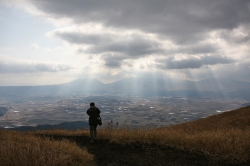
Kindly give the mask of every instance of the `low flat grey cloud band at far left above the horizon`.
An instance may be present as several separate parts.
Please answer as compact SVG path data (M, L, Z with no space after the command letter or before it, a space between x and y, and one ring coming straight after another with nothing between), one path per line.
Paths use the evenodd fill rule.
M0 62L0 73L60 72L70 69L72 69L72 67L65 64Z

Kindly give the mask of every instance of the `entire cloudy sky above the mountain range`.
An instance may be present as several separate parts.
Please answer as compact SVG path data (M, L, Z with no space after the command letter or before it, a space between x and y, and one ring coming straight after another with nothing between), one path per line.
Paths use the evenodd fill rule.
M250 82L249 0L0 0L0 86Z

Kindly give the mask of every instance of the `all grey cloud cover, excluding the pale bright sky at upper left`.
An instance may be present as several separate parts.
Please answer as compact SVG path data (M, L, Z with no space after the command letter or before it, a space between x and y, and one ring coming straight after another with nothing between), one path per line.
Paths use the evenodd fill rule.
M198 79L230 70L233 76L250 73L249 0L22 2L26 11L56 25L46 37L70 48L58 50L58 58L63 54L69 61L81 60L0 61L0 73L68 72L72 66L77 66L77 76L91 73L104 80L142 71ZM250 80L249 74L244 76Z

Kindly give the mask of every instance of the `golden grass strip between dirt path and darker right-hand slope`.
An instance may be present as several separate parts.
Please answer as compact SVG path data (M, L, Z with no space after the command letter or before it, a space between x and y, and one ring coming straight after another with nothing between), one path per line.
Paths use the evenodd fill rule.
M216 130L184 133L181 130L117 130L99 131L101 138L111 142L130 144L133 142L156 143L163 146L178 147L186 150L201 150L209 154L219 154L239 160L249 160L250 130Z

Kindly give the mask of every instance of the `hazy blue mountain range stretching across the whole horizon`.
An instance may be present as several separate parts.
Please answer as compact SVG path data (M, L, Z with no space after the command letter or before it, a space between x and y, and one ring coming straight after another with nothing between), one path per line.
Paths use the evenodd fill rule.
M125 78L104 84L94 78L78 78L72 82L46 86L2 86L0 97L37 94L125 94L169 97L220 97L250 100L250 82L232 78L209 78L189 81L173 78Z

